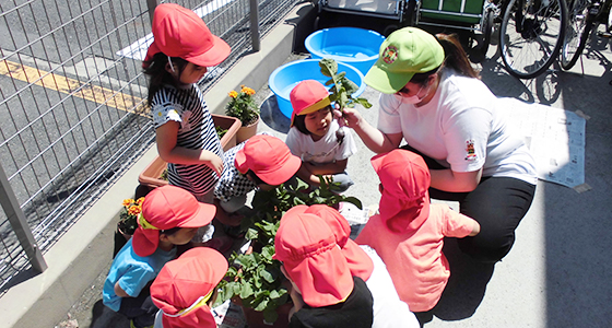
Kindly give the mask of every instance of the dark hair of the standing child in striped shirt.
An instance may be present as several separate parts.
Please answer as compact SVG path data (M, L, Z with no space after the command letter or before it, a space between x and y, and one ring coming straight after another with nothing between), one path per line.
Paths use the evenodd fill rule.
M183 73L183 70L187 66L188 61L180 57L170 57L169 60L180 77L180 73ZM144 73L149 75L149 95L146 97L149 104L153 101L155 93L162 89L162 85L177 85L176 79L166 70L168 56L164 55L164 52L157 52L149 62L149 67L144 69Z

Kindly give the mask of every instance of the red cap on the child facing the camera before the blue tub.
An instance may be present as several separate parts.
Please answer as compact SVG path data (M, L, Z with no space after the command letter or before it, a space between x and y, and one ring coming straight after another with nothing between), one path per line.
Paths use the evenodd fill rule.
M297 115L306 115L315 113L329 106L329 91L320 82L315 80L306 80L297 83L291 91L289 98L293 106L291 115L291 126Z

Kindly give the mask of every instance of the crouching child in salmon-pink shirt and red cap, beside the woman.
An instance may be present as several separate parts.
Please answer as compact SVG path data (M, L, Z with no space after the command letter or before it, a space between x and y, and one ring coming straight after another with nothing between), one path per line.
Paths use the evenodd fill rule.
M372 166L380 178L380 213L355 242L378 253L411 311L429 311L450 276L444 237L475 236L480 225L446 204L429 204L429 169L420 155L398 149L374 156Z

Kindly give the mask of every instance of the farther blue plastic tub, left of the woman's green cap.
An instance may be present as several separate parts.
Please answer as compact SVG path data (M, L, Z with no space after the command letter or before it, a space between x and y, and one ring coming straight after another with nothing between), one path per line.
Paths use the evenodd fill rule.
M352 65L365 75L378 59L378 50L384 40L385 37L374 31L332 27L314 32L304 44L313 58L333 58Z

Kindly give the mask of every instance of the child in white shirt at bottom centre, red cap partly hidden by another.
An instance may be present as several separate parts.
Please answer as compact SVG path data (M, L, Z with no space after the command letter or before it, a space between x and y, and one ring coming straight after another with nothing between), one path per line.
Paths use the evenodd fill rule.
M349 238L351 226L340 212L325 204L314 204L304 212L315 214L326 221L336 236L336 243L342 249L351 274L365 281L374 301L373 328L421 327L408 304L398 296L389 271L376 250L367 245L357 245Z

